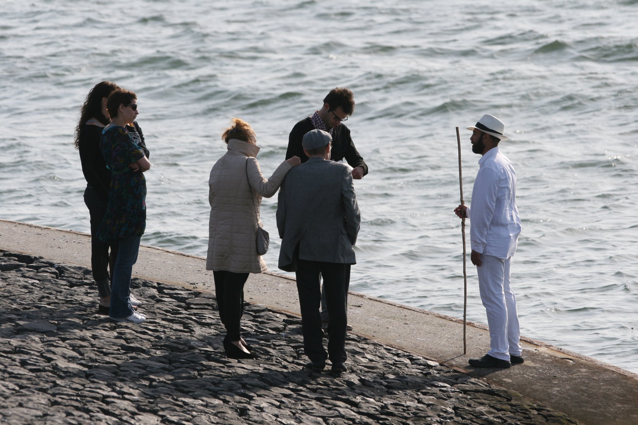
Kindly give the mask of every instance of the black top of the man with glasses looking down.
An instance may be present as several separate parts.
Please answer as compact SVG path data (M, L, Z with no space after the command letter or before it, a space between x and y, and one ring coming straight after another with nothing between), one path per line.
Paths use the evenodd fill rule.
M292 131L290 131L290 135L288 136L286 159L298 156L302 163L308 161L308 157L304 154L301 140L304 138L304 134L314 129L315 126L313 126L310 117L300 120L292 127ZM343 124L334 127L332 131L332 150L330 152L330 159L332 159L332 161L341 161L345 158L348 165L352 168L362 166L363 175L367 174L367 164L361 155L359 155L359 152L357 152L357 148L355 148L355 144L350 137L350 129Z

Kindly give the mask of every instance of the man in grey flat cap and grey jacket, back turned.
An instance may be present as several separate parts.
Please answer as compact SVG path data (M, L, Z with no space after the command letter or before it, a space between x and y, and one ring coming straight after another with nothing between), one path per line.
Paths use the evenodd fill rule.
M291 169L279 189L277 228L281 241L279 268L295 271L304 335L304 351L313 371L346 371L346 324L350 266L360 215L352 174L346 164L330 161L330 134L312 130L302 146L309 159ZM330 324L328 352L323 349L319 312L323 276Z

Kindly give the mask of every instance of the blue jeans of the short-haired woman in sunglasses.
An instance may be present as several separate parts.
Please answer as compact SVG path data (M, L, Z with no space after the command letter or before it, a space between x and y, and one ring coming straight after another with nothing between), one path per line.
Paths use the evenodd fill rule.
M140 236L129 236L119 240L113 282L111 284L110 317L128 317L133 314L131 306L131 273L140 250Z

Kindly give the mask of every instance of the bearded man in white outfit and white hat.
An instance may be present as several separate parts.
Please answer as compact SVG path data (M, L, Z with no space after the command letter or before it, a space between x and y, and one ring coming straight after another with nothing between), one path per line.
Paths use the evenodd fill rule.
M471 261L477 266L479 291L487 312L490 350L480 359L470 359L477 368L509 368L523 363L516 297L510 285L510 264L521 233L516 206L514 164L501 154L498 143L507 140L505 124L483 115L472 131L472 152L482 155L470 206L454 212L470 219Z

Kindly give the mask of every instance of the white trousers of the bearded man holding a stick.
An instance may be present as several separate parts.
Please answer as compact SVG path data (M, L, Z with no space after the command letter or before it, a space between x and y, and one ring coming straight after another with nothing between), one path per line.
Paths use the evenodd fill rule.
M489 354L501 360L509 360L510 354L521 356L516 296L510 284L512 257L502 259L480 256L482 266L477 267L479 291L487 312L489 326Z

